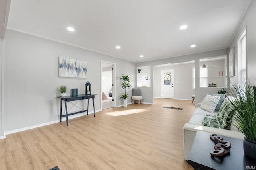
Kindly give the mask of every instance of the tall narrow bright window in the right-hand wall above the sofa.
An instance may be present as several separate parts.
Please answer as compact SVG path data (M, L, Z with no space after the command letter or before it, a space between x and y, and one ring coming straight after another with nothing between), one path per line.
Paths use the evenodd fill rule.
M246 31L242 33L238 45L238 80L240 88L244 89L246 83Z

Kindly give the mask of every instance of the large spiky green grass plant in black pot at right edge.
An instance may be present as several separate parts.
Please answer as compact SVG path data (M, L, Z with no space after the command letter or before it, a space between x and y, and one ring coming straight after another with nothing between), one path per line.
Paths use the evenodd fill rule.
M244 137L244 154L256 160L256 87L247 82L242 87L232 83L230 94L237 100L230 100L234 106L233 123Z

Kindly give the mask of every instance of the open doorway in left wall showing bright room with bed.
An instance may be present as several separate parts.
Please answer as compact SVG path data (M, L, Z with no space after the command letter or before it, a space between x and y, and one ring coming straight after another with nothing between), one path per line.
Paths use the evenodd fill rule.
M114 68L115 63L101 61L101 108L115 107L114 104Z

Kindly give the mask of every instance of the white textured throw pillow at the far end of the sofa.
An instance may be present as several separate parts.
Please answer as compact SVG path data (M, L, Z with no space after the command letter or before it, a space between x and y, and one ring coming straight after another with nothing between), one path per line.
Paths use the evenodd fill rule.
M219 100L220 100L220 96L212 96L212 95L207 94L205 96L204 100L202 101L200 108L204 109L210 113L213 113Z

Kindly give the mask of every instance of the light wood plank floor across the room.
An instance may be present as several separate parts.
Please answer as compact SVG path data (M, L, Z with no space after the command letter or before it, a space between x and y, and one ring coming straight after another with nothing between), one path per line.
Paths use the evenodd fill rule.
M181 107L183 110L163 108ZM186 100L130 104L0 140L0 170L193 170L182 157ZM131 114L129 114L131 113Z

